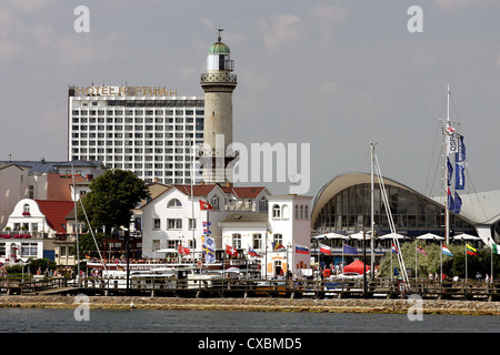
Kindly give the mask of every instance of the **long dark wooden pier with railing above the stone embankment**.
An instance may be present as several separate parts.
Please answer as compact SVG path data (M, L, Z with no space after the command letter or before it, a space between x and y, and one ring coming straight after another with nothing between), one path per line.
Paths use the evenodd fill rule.
M402 283L398 280L362 281L330 280L217 280L210 285L203 280L186 278L86 278L80 284L62 277L2 277L1 295L77 295L153 296L153 297L276 297L276 298L407 298L419 295L423 300L500 301L500 282L477 281Z

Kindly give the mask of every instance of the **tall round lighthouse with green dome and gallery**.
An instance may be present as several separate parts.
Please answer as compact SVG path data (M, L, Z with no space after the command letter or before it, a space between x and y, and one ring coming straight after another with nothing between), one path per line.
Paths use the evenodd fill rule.
M204 91L204 146L202 158L203 183L232 183L231 162L234 152L228 150L232 143L232 92L238 82L234 61L229 47L221 42L219 29L217 42L210 45L207 57L207 73L201 74ZM229 169L227 169L229 166Z

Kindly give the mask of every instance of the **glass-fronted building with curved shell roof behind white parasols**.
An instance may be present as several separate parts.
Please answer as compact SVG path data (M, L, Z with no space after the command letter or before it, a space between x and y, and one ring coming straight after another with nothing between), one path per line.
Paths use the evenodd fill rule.
M373 178L373 229L390 233L389 217ZM396 231L407 236L433 233L444 236L444 205L394 180L383 178ZM311 227L319 233L352 234L370 231L371 175L344 173L330 180L314 199ZM464 194L460 214L450 213L450 234L479 235L486 244L500 237L500 191Z

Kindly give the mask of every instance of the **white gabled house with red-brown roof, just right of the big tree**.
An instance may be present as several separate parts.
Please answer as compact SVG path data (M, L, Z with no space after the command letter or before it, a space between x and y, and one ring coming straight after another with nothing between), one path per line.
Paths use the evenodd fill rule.
M190 185L173 185L142 207L142 256L166 258L177 256L179 245L193 248L196 258L201 257L203 222L209 222L210 236L217 250L221 250L222 230L219 222L229 213L267 212L266 187L227 187L218 184L194 185L191 197ZM200 201L208 202L213 210L202 211ZM159 250L172 250L167 255Z

